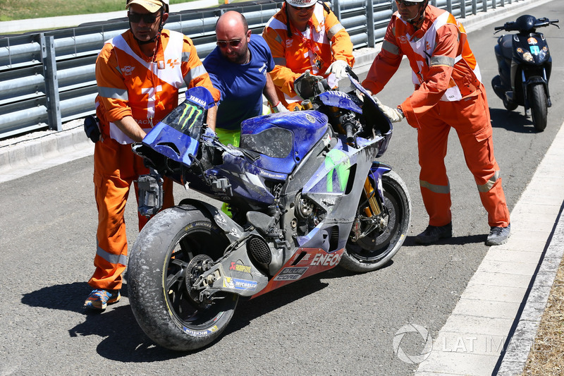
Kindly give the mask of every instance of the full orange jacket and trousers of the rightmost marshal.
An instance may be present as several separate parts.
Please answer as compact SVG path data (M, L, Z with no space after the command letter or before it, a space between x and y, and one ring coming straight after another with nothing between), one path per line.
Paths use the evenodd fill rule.
M419 185L429 224L444 226L452 219L444 158L454 128L489 226L507 226L509 211L494 157L486 90L464 28L450 13L430 5L419 30L394 13L362 85L373 93L381 91L403 55L410 61L415 92L398 107L418 130Z

